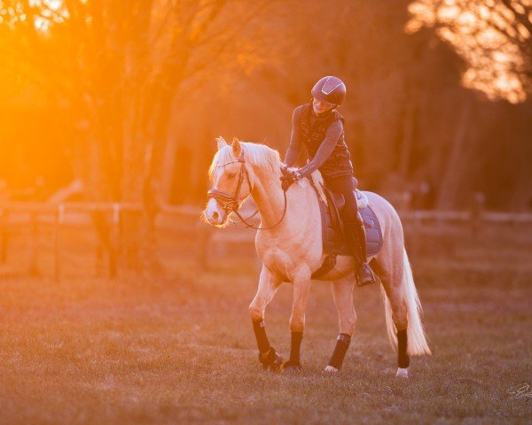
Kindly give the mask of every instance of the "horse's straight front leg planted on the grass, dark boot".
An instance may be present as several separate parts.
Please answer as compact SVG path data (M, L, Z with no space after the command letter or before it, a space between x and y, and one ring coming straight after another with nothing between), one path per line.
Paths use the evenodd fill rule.
M293 277L293 304L290 316L290 331L292 332L292 344L290 347L290 359L283 365L286 371L301 371L301 342L305 328L305 310L310 291L310 270L303 268Z

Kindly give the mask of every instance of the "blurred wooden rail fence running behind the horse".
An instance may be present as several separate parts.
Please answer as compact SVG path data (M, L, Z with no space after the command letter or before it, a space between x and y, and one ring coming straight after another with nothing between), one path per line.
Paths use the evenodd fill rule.
M35 202L4 202L0 203L0 263L7 259L9 251L9 229L12 226L27 227L29 236L29 273L37 272L37 256L39 254L37 246L38 223L47 223L51 225L51 245L53 246L54 259L54 276L59 281L61 274L61 228L71 220L80 220L85 217L85 223L91 213L100 212L111 214L111 224L113 226L113 235L117 235L118 240L113 244L120 249L120 228L122 212L141 212L141 205L126 203L63 203L51 205L47 203ZM200 221L199 206L169 206L162 207L161 214L169 215L171 220L166 223L160 223L160 226L175 226L177 223L184 225L191 230L197 249L197 260L200 267L207 268L209 249L213 244L219 245L227 243L252 243L254 241L255 231L249 228L230 228L215 229ZM251 215L253 209L245 216ZM424 223L462 223L471 228L471 235L475 237L479 229L485 223L497 224L524 224L532 223L532 213L496 213L487 212L479 205L473 206L470 211L403 211L400 212L403 223L409 226L413 237L412 244L416 246L416 237L419 237L417 229ZM70 220L70 221L69 221ZM256 222L258 220L255 218ZM109 274L117 274L116 261L110 260Z

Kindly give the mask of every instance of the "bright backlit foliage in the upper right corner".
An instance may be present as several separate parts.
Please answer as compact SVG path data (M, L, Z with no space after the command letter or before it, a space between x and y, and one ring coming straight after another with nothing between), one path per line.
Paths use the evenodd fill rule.
M416 0L409 32L434 27L465 60L463 83L512 103L532 94L532 1Z

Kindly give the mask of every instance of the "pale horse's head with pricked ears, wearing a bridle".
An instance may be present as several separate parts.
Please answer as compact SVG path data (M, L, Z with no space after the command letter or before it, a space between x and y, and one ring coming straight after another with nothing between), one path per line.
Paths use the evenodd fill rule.
M239 139L228 145L223 137L216 139L218 151L209 170L213 189L207 192L204 216L215 226L227 223L229 214L237 211L253 189L254 174L246 166L246 158Z

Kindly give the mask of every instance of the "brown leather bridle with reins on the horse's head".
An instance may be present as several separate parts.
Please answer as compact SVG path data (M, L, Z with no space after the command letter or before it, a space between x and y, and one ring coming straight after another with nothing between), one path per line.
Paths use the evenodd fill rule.
M256 230L268 230L270 228L275 228L281 223L281 221L285 218L285 215L286 215L286 191L283 190L283 194L285 196L285 211L283 212L283 215L281 216L280 220L278 220L276 224L274 224L273 226L270 226L270 228L257 228L254 225L249 224L246 220L251 219L259 211L257 210L251 216L247 217L247 219L244 219L244 217L242 217L239 213L239 208L240 208L239 194L240 194L240 189L242 188L242 183L244 182L245 178L247 180L247 187L249 188L249 193L251 193L251 190L253 189L251 187L251 179L249 178L249 172L247 171L247 167L246 167L246 160L244 159L244 151L240 153L240 157L238 159L234 159L232 161L226 162L224 164L216 165L216 166L229 166L230 164L234 164L237 162L240 163L239 182L237 183L237 189L235 189L234 195L231 195L231 193L225 192L223 190L213 188L207 192L207 199L214 197L216 202L220 204L220 206L222 207L223 211L225 211L225 213L227 214L235 213L237 217L239 217L239 219L244 224L246 224L246 228L254 228Z

